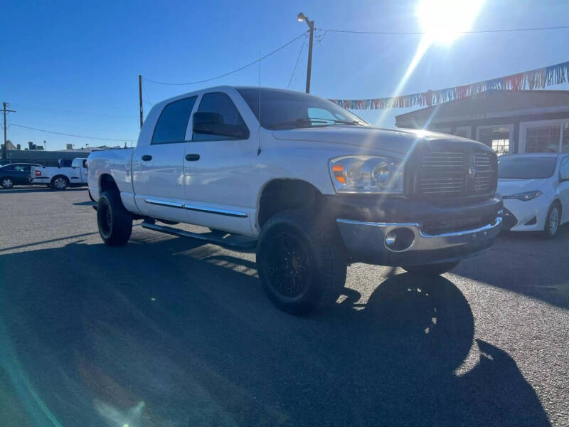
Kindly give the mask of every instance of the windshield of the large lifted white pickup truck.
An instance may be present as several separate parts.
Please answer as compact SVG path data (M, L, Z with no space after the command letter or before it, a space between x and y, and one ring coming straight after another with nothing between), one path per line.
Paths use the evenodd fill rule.
M237 90L265 129L333 125L369 126L360 117L334 102L314 95L265 88L237 88Z

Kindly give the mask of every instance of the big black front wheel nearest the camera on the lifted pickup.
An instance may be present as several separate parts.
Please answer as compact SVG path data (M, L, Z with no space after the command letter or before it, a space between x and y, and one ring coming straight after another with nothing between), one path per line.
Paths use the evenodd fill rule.
M338 231L304 211L275 214L262 227L257 271L273 304L307 315L338 299L346 282L346 258Z

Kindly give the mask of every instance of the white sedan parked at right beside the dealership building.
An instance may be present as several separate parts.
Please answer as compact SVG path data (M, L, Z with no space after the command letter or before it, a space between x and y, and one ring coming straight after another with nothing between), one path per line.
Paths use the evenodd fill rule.
M555 237L569 221L569 155L499 157L498 192L504 198L503 229Z

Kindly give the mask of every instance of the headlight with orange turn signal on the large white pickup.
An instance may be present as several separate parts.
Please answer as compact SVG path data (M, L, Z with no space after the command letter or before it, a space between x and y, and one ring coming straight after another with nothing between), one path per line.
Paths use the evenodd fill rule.
M336 193L403 193L403 164L381 156L345 156L330 160Z

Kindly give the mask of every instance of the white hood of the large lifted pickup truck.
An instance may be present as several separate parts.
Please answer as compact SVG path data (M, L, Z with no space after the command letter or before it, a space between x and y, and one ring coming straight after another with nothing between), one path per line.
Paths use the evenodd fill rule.
M423 130L394 130L368 126L323 126L302 129L275 130L277 139L289 141L328 142L331 144L355 145L385 149L406 154L419 141L435 139L464 139L454 135ZM467 139L464 139L465 141Z

